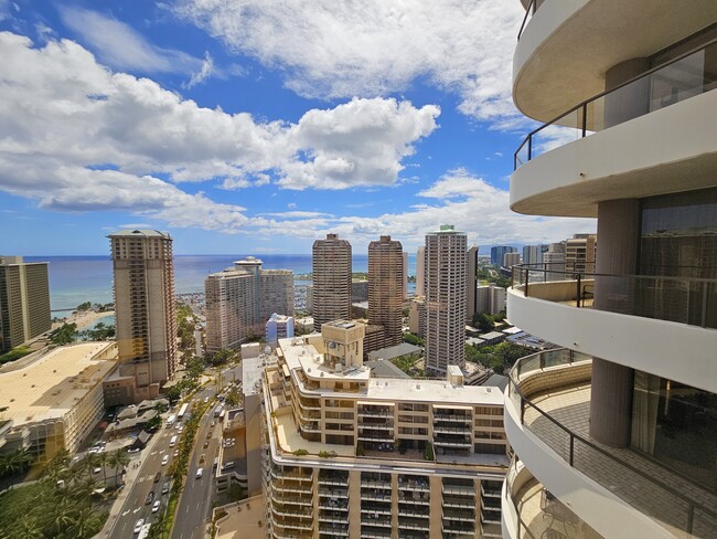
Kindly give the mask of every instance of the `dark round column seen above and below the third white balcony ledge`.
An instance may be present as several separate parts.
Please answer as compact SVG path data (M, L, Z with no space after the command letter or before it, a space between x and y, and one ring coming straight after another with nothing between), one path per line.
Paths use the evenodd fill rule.
M598 204L596 273L634 275L638 268L639 242L638 200L609 200ZM596 277L593 308L630 313L633 303L633 279ZM614 447L624 447L630 443L633 383L633 369L593 358L590 435L599 442Z

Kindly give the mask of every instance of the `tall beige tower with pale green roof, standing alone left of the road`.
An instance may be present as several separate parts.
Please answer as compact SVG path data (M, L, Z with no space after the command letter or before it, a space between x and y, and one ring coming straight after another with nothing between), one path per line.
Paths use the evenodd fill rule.
M133 366L139 394L145 388L150 397L176 370L172 239L156 230L122 230L108 237L119 360Z

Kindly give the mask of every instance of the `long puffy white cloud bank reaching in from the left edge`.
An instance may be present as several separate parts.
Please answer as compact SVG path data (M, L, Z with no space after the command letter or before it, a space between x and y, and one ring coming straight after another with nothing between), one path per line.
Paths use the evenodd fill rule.
M309 110L297 124L257 123L111 73L72 41L34 49L0 32L0 189L53 210L125 210L173 226L235 230L248 224L243 208L161 178L225 189L272 178L290 189L390 184L438 114L374 98Z

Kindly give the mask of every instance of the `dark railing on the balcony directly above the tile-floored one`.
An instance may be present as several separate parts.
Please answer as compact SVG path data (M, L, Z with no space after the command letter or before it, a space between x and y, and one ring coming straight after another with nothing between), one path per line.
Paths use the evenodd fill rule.
M717 328L717 278L687 276L699 273L699 267L663 268L666 273L684 275L672 276L590 273L565 266L517 264L512 267L513 289L522 292L525 297L538 297L577 308L592 308L599 299L601 310L610 313ZM569 283L571 290L568 288L550 294L546 286L555 286L556 292L564 288L557 282L564 285ZM537 285L534 292L531 288L533 285Z

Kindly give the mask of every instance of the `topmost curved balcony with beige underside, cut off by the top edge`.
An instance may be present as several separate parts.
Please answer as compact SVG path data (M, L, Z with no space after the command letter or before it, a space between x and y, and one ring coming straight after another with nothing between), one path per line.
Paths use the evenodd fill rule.
M544 0L528 6L513 57L513 99L547 121L604 89L604 74L650 56L717 20L717 4L694 0Z

